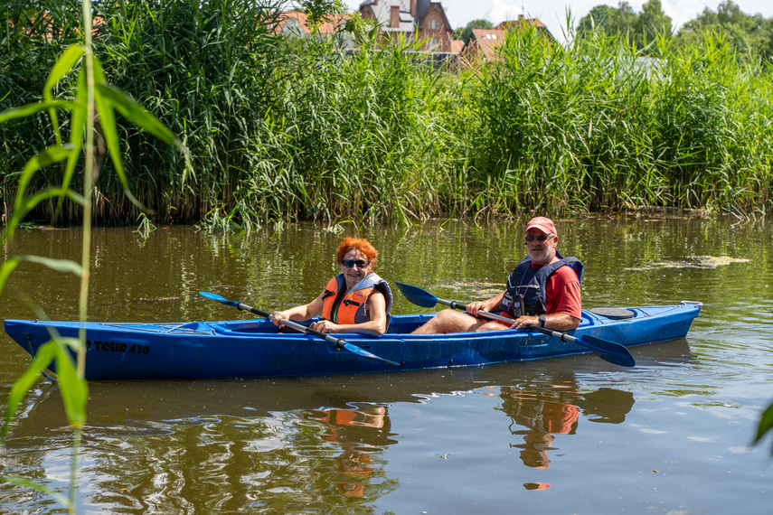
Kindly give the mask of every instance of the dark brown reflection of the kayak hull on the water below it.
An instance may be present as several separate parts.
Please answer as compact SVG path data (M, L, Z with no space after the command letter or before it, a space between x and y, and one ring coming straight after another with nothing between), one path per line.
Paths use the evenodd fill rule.
M645 345L635 354L646 367L683 367L695 359L684 339ZM633 406L633 394L607 386L594 388L592 379L575 379L599 377L598 372L606 370L606 361L586 354L568 360L458 367L442 373L411 370L386 376L386 383L382 374L100 382L90 385L87 419L93 431L155 434L174 430L176 425L207 424L213 418L277 417L291 411L303 412L297 417L322 417L327 409L425 403L429 398L466 393L496 396L506 385L520 390L521 398L547 396L573 404L587 422L619 424ZM604 376L599 379L607 385ZM47 381L39 384L40 389L31 391L18 409L24 413L15 422L14 438L18 441L47 434L52 427L68 426L61 409L61 389ZM503 410L508 417L514 413L504 403ZM382 445L377 440L363 441Z

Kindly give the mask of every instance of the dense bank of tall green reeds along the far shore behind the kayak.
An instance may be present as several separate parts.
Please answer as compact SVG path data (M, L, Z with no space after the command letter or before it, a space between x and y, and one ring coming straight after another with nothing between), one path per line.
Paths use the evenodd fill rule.
M249 229L295 219L769 205L770 70L710 38L700 50L658 41L645 59L600 34L562 47L523 30L497 60L457 73L415 59L409 43L379 47L366 32L351 53L323 39L284 41L266 28L275 14L248 0L104 9L110 23L95 46L108 80L193 152L195 173L182 186L174 149L122 127L129 183L156 223ZM42 89L37 70L58 44L27 37L21 51L4 47L0 61L14 66L0 67L10 91L0 109ZM30 145L46 143L45 118L35 124L0 126L8 205L13 172ZM32 187L60 176L50 169ZM95 220L132 224L137 208L114 177L99 176ZM50 220L54 209L36 216Z

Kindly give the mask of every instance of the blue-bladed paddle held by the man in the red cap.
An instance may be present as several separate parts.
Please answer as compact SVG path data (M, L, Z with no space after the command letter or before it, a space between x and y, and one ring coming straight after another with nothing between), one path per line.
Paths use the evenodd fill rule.
M421 307L434 307L435 304L443 304L447 305L451 309L458 309L461 311L465 311L467 309L467 304L460 304L457 303L457 301L438 299L438 297L435 295L429 294L429 292L422 290L418 286L404 285L397 281L395 281L395 283L397 284L397 287L400 288L402 295L405 295L405 298L407 298L411 303L420 305ZM506 323L514 322L512 318L507 318L506 316L501 316L499 314L488 313L487 311L479 311L477 314L483 318L488 318L491 320L499 320ZM558 338L563 342L577 343L578 345L593 351L593 353L599 356L599 358L602 360L609 361L610 363L614 363L621 367L636 366L636 360L634 360L634 357L631 355L631 352L627 350L625 345L620 345L619 343L615 342L608 342L607 340L602 340L595 336L590 336L589 334L584 334L582 336L571 336L566 332L552 331L551 329L540 327L539 325L534 325L533 323L527 324L526 327L532 331L542 332L554 338Z

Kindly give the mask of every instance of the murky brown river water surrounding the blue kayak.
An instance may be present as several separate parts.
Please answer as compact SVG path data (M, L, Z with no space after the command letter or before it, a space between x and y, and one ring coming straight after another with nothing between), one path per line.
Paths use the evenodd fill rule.
M212 236L95 229L89 317L242 320L210 291L266 311L306 303L344 236L376 272L434 295L492 295L525 254L525 220L475 226L292 225ZM702 302L685 340L486 367L281 379L92 382L78 513L769 513L773 231L760 220L556 220L585 265L583 307ZM343 229L340 232L337 230ZM80 259L80 229L22 230L17 254ZM2 318L77 320L79 279L24 263ZM395 314L425 312L395 290ZM30 363L0 334L0 407ZM40 378L13 418L0 475L68 494L72 432ZM62 513L0 482L0 513Z

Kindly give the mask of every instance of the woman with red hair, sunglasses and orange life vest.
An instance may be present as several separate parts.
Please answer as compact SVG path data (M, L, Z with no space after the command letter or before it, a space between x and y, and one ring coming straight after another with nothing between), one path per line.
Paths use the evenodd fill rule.
M379 251L363 238L346 238L335 251L341 273L328 281L316 299L284 311L275 311L271 320L282 327L282 320L297 322L321 316L309 325L319 332L362 332L381 336L389 327L391 290L386 281L373 273Z

